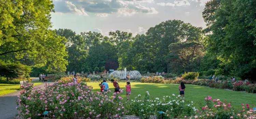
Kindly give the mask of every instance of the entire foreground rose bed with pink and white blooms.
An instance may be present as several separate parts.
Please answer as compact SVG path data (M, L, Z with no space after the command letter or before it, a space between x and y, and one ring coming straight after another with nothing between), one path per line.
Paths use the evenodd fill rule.
M135 115L141 119L148 119L155 115L162 119L254 119L253 105L242 104L241 109L233 109L231 102L206 97L200 109L194 107L180 96L164 96L154 98L146 91L145 96L138 95L127 102L119 93L97 92L85 83L56 82L47 84L44 90L33 88L27 84L17 99L18 115L26 119L43 117L48 111L48 118L53 119L114 119L125 115ZM123 90L120 90L122 93ZM160 115L159 112L163 111Z

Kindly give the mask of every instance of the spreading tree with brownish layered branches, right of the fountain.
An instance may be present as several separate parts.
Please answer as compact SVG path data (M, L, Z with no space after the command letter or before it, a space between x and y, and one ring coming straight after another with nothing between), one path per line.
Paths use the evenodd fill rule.
M204 56L204 47L195 41L172 43L171 51L166 60L171 62L171 69L175 73L195 72L199 70L200 62Z

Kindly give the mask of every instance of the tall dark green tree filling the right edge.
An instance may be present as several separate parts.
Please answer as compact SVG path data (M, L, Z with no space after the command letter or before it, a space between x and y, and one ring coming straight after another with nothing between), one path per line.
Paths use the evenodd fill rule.
M243 79L256 78L255 4L253 0L221 0L208 40L208 51L221 60L228 74Z

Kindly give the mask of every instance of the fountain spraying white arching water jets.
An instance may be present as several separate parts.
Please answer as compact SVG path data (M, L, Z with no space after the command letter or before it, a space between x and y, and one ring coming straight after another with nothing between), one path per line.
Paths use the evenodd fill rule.
M126 75L130 75L130 79L136 79L136 78L141 78L141 74L139 71L126 71L126 68L124 70L115 70L113 71L109 77L116 77L116 78L120 78L120 79L126 79Z

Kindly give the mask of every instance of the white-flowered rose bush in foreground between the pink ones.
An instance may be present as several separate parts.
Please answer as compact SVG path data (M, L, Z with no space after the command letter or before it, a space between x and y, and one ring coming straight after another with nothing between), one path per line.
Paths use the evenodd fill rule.
M160 111L163 111L162 118L172 119L184 115L195 115L197 109L193 107L193 102L184 101L180 96L176 97L173 94L171 97L165 96L160 100L150 96L148 91L144 97L138 95L134 100L131 100L128 106L128 114L136 115L141 119L148 119L150 115L156 115L157 118L160 118Z

